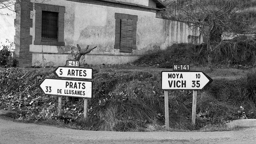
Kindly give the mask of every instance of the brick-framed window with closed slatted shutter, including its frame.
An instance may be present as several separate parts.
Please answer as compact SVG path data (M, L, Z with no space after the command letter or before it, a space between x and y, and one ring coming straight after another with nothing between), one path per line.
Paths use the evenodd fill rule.
M115 49L132 52L136 47L137 15L115 13Z

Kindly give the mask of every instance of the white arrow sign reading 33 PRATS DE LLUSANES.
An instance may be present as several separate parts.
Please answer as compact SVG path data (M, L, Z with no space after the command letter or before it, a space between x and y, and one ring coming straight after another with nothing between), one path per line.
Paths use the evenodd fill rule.
M93 83L86 80L45 78L38 87L46 95L92 98Z

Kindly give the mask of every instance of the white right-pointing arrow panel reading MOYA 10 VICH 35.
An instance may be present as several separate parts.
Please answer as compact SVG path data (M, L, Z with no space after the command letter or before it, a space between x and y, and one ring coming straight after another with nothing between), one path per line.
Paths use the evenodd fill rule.
M162 71L163 90L201 90L213 80L201 71Z

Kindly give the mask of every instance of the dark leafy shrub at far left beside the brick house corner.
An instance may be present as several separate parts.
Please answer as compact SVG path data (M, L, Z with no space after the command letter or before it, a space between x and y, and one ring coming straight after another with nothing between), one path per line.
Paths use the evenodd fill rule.
M18 64L17 59L12 56L13 42L6 39L9 45L2 45L3 49L0 50L0 66L1 67L16 67Z

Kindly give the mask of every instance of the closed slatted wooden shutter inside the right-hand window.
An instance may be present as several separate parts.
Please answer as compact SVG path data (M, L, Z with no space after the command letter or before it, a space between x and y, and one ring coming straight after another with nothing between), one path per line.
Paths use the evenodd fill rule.
M120 52L132 52L133 20L121 19Z

